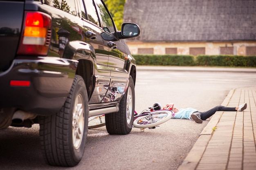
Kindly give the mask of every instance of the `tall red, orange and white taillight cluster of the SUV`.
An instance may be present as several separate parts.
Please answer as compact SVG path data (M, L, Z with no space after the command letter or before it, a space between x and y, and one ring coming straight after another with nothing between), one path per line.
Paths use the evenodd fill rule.
M42 12L25 11L24 18L17 54L47 55L52 33L51 16Z

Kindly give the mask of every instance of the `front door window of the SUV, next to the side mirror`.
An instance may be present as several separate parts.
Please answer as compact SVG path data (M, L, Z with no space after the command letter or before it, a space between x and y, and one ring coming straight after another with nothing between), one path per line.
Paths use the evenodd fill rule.
M115 27L112 22L111 16L108 13L108 10L105 8L101 0L95 0L97 2L98 8L99 8L99 14L101 15L102 19L102 28L105 31L109 31L110 33L115 33Z

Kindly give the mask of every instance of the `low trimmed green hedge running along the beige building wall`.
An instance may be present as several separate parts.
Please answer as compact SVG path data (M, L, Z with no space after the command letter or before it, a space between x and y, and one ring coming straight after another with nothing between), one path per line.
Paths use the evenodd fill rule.
M133 54L137 65L256 67L256 56L239 55L153 55Z

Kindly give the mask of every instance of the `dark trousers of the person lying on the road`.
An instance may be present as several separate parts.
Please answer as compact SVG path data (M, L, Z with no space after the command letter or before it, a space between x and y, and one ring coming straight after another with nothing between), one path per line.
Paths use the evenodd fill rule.
M236 111L236 107L225 107L225 106L216 106L208 111L204 111L204 112L195 112L195 114L199 114L202 120L207 120L207 118L213 116L213 114L216 111Z

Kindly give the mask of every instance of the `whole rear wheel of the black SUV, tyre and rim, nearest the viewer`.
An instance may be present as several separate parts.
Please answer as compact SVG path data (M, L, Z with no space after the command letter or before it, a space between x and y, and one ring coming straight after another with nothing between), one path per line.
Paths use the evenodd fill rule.
M76 75L61 110L40 116L40 144L52 166L76 166L83 157L88 131L88 96L81 76Z

